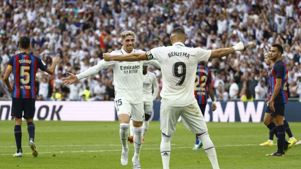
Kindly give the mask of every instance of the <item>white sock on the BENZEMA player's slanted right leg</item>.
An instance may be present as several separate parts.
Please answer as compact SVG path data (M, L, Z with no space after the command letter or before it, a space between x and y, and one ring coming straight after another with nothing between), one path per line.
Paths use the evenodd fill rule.
M216 151L214 145L209 137L209 134L206 132L199 137L200 141L203 143L204 150L208 156L213 169L219 169L219 163L217 161Z

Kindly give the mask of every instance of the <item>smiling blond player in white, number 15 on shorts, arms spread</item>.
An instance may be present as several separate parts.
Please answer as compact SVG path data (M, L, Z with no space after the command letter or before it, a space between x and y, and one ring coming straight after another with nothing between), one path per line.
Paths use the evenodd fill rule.
M129 53L141 53L142 50L135 50L135 34L132 31L124 31L121 33L121 44L123 47L121 50L112 51L112 55L123 55ZM139 154L142 144L142 122L144 120L144 109L143 109L143 65L153 65L160 68L158 61L138 61L138 62L117 62L117 61L105 61L102 60L99 64L90 67L86 71L73 75L72 73L66 72L70 75L68 78L62 78L63 84L70 86L75 81L82 78L91 76L101 69L106 69L113 66L114 72L114 84L115 84L115 107L120 123L120 139L122 143L122 153L120 162L123 166L128 164L129 147L127 140L129 136L129 121L130 116L133 120L133 129L135 133L134 146L135 154L132 158L133 168L141 168L139 162Z

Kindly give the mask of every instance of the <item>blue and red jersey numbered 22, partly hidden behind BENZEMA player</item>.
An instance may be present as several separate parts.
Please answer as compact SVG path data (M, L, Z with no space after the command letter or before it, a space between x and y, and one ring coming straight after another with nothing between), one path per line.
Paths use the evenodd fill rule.
M197 65L197 73L195 75L194 97L198 104L207 104L208 93L206 87L211 84L211 74L208 68L200 64Z

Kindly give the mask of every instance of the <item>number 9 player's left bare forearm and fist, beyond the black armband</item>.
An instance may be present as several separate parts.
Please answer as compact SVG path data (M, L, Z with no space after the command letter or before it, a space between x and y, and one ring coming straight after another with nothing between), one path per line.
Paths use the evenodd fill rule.
M125 55L111 55L110 53L103 54L105 61L126 61L126 62L135 62L140 60L147 60L146 58L146 52L142 53L131 53L131 54L125 54Z

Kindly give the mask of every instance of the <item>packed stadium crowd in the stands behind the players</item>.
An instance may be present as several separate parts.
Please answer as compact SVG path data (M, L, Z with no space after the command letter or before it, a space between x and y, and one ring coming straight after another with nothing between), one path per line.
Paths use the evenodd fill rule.
M0 13L2 99L9 98L3 75L10 57L20 52L21 36L29 36L31 52L48 66L58 53L63 60L55 75L37 73L37 99L112 100L112 67L69 88L61 85L61 78L99 63L105 52L119 50L125 30L135 32L136 49L148 51L171 45L169 35L178 26L185 29L188 47L217 49L244 42L244 51L204 63L217 100L266 98L264 54L273 43L284 47L289 97L301 99L300 0L4 0ZM160 70L151 66L149 70L162 88Z

